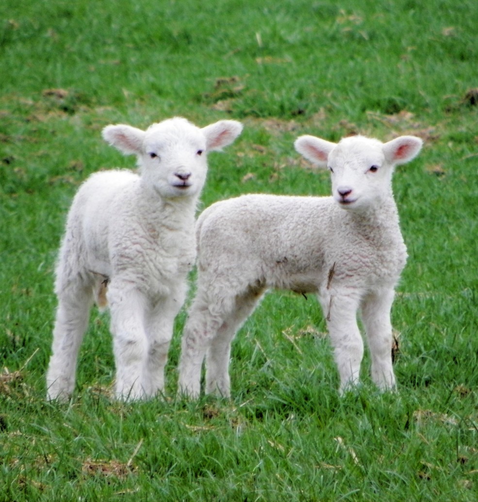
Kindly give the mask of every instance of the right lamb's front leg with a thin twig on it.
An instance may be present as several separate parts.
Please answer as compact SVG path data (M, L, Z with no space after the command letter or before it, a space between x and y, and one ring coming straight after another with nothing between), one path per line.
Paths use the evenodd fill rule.
M321 304L327 320L335 360L340 375L340 393L359 382L364 342L357 325L359 298L350 290L324 292Z

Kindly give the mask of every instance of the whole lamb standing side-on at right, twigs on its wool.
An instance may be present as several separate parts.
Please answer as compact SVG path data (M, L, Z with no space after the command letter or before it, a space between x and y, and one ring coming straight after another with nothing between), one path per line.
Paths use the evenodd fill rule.
M196 398L206 359L206 393L230 396L231 341L267 288L315 293L340 376L340 393L359 381L364 343L373 382L393 389L394 288L407 259L392 193L392 173L422 141L385 144L355 136L338 144L301 136L295 149L328 167L332 196L243 195L216 202L199 217L197 294L182 338L179 392Z

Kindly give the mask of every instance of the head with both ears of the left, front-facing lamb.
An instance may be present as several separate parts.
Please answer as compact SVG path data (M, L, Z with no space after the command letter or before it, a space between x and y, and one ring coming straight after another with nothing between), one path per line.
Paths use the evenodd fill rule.
M103 138L128 155L134 154L142 182L162 197L199 195L206 180L207 154L232 143L242 131L235 120L220 120L204 128L182 117L169 118L146 131L124 124L107 126Z

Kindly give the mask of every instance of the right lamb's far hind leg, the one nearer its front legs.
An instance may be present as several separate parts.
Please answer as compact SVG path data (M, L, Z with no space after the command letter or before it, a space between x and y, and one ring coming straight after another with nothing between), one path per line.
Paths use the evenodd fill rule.
M230 396L231 342L254 310L262 292L262 289L250 289L246 294L238 296L232 311L222 323L215 338L211 340L206 353L206 394L214 393L226 398Z

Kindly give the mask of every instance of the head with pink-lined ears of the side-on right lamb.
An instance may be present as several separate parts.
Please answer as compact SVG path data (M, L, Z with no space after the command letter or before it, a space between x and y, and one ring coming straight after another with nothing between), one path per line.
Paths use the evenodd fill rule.
M352 136L336 144L301 136L294 146L306 159L331 171L332 195L341 207L362 210L391 196L394 167L412 160L420 151L422 140L400 136L381 143Z

